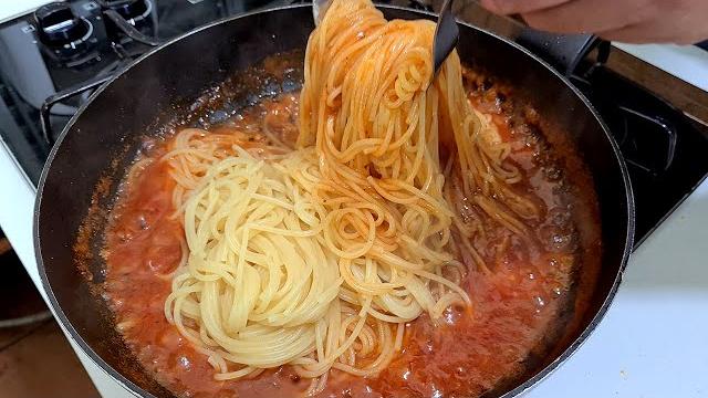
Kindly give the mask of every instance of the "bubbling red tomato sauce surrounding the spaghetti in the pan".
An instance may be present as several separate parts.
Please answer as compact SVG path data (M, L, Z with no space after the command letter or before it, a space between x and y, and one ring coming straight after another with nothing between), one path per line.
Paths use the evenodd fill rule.
M475 245L491 272L471 270L464 282L472 314L452 307L439 325L425 316L412 322L402 353L384 373L355 378L333 371L322 396L459 397L503 389L509 380L542 364L553 349L549 343L558 343L569 321L582 312L577 285L592 284L592 270L600 261L592 188L579 186L587 179L564 172L560 158L549 155L562 146L549 149L532 111L512 106L502 91L479 75L468 73L466 83L472 103L492 114L502 138L512 143L510 157L525 176L514 188L543 209L541 220L529 224L535 243L509 237L486 221L489 234ZM258 134L270 114L272 130L292 140L295 112L296 98L283 95L263 101L218 129ZM148 144L152 149L145 158L164 154L165 143ZM178 220L169 218L174 182L167 165L153 161L138 167L125 181L106 231L105 289L118 329L139 363L180 397L299 396L309 380L288 367L254 379L214 380L206 356L165 320L170 281L163 275L179 264L184 231ZM469 263L466 253L460 258Z

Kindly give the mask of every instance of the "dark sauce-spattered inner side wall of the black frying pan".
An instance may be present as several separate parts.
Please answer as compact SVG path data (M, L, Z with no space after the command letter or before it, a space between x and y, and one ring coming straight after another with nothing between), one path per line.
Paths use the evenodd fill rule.
M382 7L386 18L433 14ZM42 172L34 214L34 244L42 283L59 321L96 365L135 396L170 397L115 332L100 297L104 274L98 250L105 210L140 137L164 125L207 87L266 56L304 49L313 29L308 6L285 7L218 21L147 53L96 91L64 128ZM491 395L513 397L531 388L587 338L605 314L626 265L634 234L627 171L617 145L590 103L561 73L520 45L460 23L465 64L490 71L532 104L549 128L565 132L590 168L602 222L602 266L590 304L551 354ZM552 49L553 50L553 49ZM555 49L558 50L558 49ZM561 49L562 50L562 49ZM96 189L98 187L98 189ZM96 193L97 192L97 193ZM81 229L93 218L94 229ZM79 233L90 250L76 259ZM80 264L80 265L77 265Z

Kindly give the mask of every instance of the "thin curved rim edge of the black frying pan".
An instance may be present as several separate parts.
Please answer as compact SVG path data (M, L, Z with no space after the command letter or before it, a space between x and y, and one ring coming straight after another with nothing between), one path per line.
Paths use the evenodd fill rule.
M138 65L140 62L143 62L147 57L154 55L155 53L157 53L159 51L163 51L164 49L173 45L174 43L176 43L178 41L181 41L183 39L186 39L186 38L191 36L194 34L200 33L202 31L206 31L208 29L211 29L212 27L216 27L216 25L219 25L219 24L222 24L222 23L229 23L229 22L237 21L237 20L240 20L240 19L250 18L252 15L260 14L260 13L280 12L280 11L287 11L287 10L291 10L291 9L301 9L301 8L310 8L310 7L311 7L310 4L281 6L281 7L274 7L274 8L260 9L260 10L247 12L247 13L243 13L243 14L226 17L226 18L212 21L212 22L210 22L208 24L205 24L202 27L196 28L196 29L194 29L194 30L191 30L189 32L186 32L184 34L180 34L180 35L178 35L176 38L173 38L173 39L168 40L167 42L163 43L162 45L149 50L145 54L143 54L139 57L137 57L129 65L127 65L124 69L122 69L121 71L118 71L111 80L108 80L106 83L104 83L101 87L98 87L88 97L86 103L84 103L77 109L76 114L74 114L74 116L72 116L72 118L69 121L66 126L62 129L62 133L58 137L55 144L53 145L53 147L52 147L52 149L51 149L51 151L49 154L48 160L44 164L44 167L42 169L42 174L41 174L41 177L40 177L40 182L38 185L37 199L35 199L35 202L34 202L34 210L33 210L33 230L32 230L32 238L33 238L33 243L34 243L33 244L34 245L34 255L35 255L37 264L38 264L38 271L39 271L39 274L40 274L40 279L42 281L42 287L46 292L49 304L50 304L52 311L54 312L56 318L61 323L62 327L65 331L69 332L70 337L76 343L76 345L79 345L79 347L81 347L82 352L93 362L94 365L96 365L98 368L101 368L104 374L110 376L113 380L115 380L115 383L119 384L121 387L123 387L127 392L132 394L135 397L155 397L155 396L153 394L150 394L149 391L143 389L142 387L139 387L138 385L133 383L132 380L129 380L127 377L123 376L116 369L114 369L108 363L106 363L83 339L81 334L76 331L76 328L73 326L73 324L69 321L69 317L66 316L66 314L64 313L63 308L61 307L56 296L54 295L52 286L51 286L50 282L49 282L49 277L48 277L48 274L46 274L46 268L44 266L44 260L43 260L43 255L42 255L42 245L41 245L40 235L39 235L40 234L40 232L39 232L39 230L40 230L39 229L39 222L40 222L40 209L41 209L42 200L43 200L44 186L45 186L46 179L49 178L53 160L56 157L56 154L59 153L59 150L60 150L60 148L62 146L62 143L64 142L65 137L73 129L73 126L76 123L76 121L82 116L84 111L88 106L91 106L91 104L94 102L94 100L96 97L98 97L113 82L115 82L118 78L125 76L131 69L133 69L134 66ZM410 9L410 8L406 8L406 7L398 7L398 6L377 4L377 8L382 9L382 10L402 10L402 11L410 12L410 13L418 14L418 15L421 15L421 17L435 17L436 15L433 12L415 10L415 9ZM605 314L607 313L607 310L612 305L612 302L614 301L614 297L615 297L615 295L617 293L620 284L622 283L622 279L623 279L624 272L626 270L626 265L627 265L627 262L629 260L629 256L631 256L631 253L632 253L633 243L634 243L634 233L635 233L634 192L633 192L633 189L632 189L632 184L631 184L631 180L629 180L626 163L624 160L624 157L623 157L622 153L620 151L620 147L618 147L616 140L614 139L614 137L610 133L608 127L606 126L606 124L604 123L602 117L598 115L598 113L595 109L595 107L590 103L590 101L564 75L562 75L555 69L553 69L548 62L543 61L538 55L533 54L531 51L527 50L525 48L521 46L520 44L518 44L518 43L516 43L516 42L513 42L513 41L511 41L511 40L509 40L507 38L500 36L500 35L498 35L496 33L492 33L492 32L489 32L487 30L480 29L478 27L475 27L475 25L472 25L470 23L467 23L467 22L464 22L464 21L459 21L458 20L457 22L458 22L458 24L460 24L460 25L462 25L462 27L465 27L467 29L471 29L473 31L477 31L480 34L486 34L488 36L491 36L492 39L503 43L502 45L510 45L510 46L514 48L517 51L521 52L523 55L530 57L531 60L535 61L537 63L539 63L543 67L545 67L552 75L555 76L555 78L559 78L582 102L582 104L585 105L587 111L590 111L590 113L592 114L592 116L594 117L596 123L600 125L601 129L603 130L603 133L605 135L605 138L610 142L610 145L611 145L611 148L612 148L612 155L614 156L615 161L617 161L617 166L620 168L620 172L622 174L622 181L623 181L624 188L625 188L625 197L626 197L625 206L626 206L627 230L626 230L626 235L625 235L625 243L624 243L624 249L623 249L623 253L622 253L621 264L618 266L617 274L614 277L612 286L610 287L610 291L607 292L607 294L606 294L603 303L598 307L598 310L593 315L592 320L584 327L583 332L560 355L555 356L555 358L552 362L550 362L545 367L543 367L541 370L539 370L535 375L533 375L530 378L527 378L519 386L517 386L513 389L504 392L501 396L502 398L511 398L511 397L517 397L517 396L520 396L520 395L529 391L534 386L537 386L540 381L542 381L548 376L550 376L555 369L558 369L558 367L561 364L563 364L565 360L568 360L568 358L570 358L575 352L577 352L577 349L587 341L587 337L595 331L597 325L602 322L602 320L604 318Z

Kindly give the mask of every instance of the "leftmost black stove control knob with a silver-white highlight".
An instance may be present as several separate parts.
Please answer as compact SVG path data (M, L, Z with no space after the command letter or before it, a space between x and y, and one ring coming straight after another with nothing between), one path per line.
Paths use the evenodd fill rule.
M91 22L76 17L71 7L64 2L42 6L34 11L34 20L40 40L62 52L77 52L85 49L91 36Z

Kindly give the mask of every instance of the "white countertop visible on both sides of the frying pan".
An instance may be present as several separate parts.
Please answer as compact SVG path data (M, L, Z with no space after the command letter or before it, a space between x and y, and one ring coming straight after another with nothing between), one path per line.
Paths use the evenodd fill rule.
M34 283L34 192L0 145L0 226ZM605 320L531 398L708 396L708 181L633 255ZM44 294L44 292L42 292ZM129 397L79 354L104 397Z

